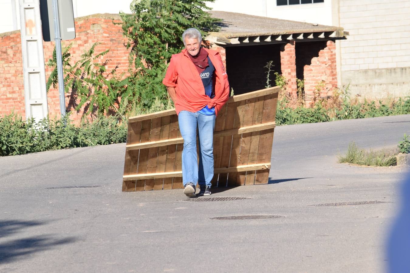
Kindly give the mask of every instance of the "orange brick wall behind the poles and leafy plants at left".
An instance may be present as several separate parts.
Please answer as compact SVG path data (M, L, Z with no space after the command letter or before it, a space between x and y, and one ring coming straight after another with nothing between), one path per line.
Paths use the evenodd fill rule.
M129 51L125 48L126 38L122 35L118 15L95 14L75 19L76 38L73 41L63 41L62 46L72 43L71 63L79 60L84 50L88 50L93 43L101 43L96 47L96 53L109 49L103 59L109 60L106 68L112 70L118 67L118 73L127 71ZM44 62L52 57L54 43L43 42ZM9 114L12 111L25 116L23 65L21 53L20 31L2 34L0 36L0 115ZM46 79L52 68L46 65ZM48 92L48 112L50 117L59 117L59 94L55 89ZM76 105L74 94L66 93L66 108L73 111ZM74 111L71 118L78 120L83 111Z

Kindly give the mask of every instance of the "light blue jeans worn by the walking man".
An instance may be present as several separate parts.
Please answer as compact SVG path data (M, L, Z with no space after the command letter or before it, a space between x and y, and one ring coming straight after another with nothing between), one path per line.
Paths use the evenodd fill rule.
M178 124L184 149L182 150L182 183L187 185L207 185L211 187L214 176L214 125L215 115L207 116L201 113L180 111ZM196 153L196 128L199 132L200 156L199 166Z

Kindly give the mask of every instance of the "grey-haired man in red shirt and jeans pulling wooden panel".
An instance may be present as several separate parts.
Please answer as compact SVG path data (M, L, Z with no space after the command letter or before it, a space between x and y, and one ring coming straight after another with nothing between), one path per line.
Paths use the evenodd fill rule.
M182 182L184 194L194 197L210 195L214 176L214 125L218 111L229 97L228 75L221 56L201 47L198 29L182 34L185 49L171 57L162 83L174 102L184 149L182 150ZM199 166L196 153L196 130L199 132Z

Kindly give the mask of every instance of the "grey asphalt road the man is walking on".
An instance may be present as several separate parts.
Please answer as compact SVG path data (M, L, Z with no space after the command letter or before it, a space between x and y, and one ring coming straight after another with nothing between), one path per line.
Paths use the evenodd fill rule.
M122 193L125 144L0 158L0 272L383 272L406 167L337 163L397 145L410 115L279 126L269 184ZM102 187L47 189L74 185ZM361 205L320 205L380 201ZM269 219L212 217L274 215Z

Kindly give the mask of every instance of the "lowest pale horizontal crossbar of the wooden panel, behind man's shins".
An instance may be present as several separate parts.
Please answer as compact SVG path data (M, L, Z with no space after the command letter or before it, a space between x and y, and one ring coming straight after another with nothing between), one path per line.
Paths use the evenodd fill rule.
M270 169L271 162L251 164L251 165L241 165L235 167L217 168L214 169L214 174L225 174L233 171L256 171ZM182 177L182 171L167 171L162 173L152 173L152 174L130 174L124 175L123 180L144 180L144 179L156 179L156 178L167 178L167 177Z

